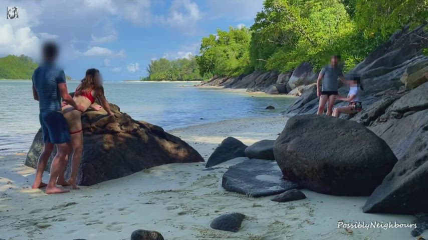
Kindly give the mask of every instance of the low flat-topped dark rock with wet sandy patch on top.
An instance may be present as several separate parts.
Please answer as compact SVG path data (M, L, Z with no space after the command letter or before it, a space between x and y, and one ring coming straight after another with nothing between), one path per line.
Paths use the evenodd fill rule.
M229 167L223 174L222 186L228 191L260 197L282 193L297 184L283 179L275 161L247 159Z

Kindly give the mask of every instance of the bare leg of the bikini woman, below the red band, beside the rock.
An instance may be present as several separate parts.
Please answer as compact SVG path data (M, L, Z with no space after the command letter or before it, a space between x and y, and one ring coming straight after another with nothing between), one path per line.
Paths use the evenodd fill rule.
M71 158L71 173L67 180L73 189L79 189L77 185L77 174L79 173L80 161L82 160L83 151L83 132L78 132L71 135L71 144L73 146L73 155Z

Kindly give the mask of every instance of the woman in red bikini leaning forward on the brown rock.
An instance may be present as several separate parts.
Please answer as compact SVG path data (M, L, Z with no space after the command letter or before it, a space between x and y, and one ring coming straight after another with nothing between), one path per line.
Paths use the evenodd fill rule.
M86 109L91 107L95 110L101 110L104 107L109 115L114 115L104 95L102 79L98 69L90 68L86 70L85 78L77 86L73 99L78 104L85 106ZM99 100L102 107L98 104L94 104L95 99ZM70 128L71 147L69 146L69 155L72 155L72 162L70 178L66 181L64 179L64 173L60 174L57 183L60 185L72 185L73 189L78 189L76 178L83 150L82 112L76 110L71 105L63 105L62 111ZM65 168L66 166L64 166L64 172Z

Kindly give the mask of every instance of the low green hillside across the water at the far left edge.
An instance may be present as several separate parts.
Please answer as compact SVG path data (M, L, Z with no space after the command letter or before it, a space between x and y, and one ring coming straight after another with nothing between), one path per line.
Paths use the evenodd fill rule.
M31 79L37 63L26 55L0 57L0 79Z

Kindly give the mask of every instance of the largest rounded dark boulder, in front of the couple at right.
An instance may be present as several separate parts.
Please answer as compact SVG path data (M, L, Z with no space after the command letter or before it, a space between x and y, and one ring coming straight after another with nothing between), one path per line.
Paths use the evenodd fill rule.
M274 153L287 179L333 195L370 195L397 161L366 127L326 115L291 117Z

